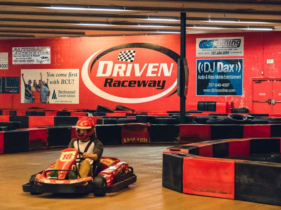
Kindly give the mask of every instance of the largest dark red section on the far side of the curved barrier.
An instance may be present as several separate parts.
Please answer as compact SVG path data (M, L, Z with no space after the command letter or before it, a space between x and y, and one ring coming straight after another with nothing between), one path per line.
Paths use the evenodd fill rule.
M228 142L229 156L249 156L250 140L244 138L222 139L216 141Z

